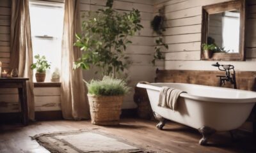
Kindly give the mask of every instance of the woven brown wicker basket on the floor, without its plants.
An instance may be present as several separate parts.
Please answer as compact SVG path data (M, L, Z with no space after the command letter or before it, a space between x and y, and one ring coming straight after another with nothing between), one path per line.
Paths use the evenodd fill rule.
M92 124L116 126L119 124L124 96L93 96L88 94Z

